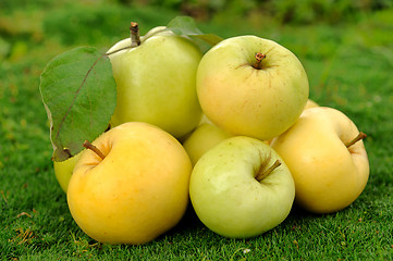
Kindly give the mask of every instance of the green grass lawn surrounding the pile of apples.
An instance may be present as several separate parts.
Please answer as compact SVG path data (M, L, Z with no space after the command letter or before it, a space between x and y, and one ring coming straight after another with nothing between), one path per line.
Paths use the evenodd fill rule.
M231 17L200 23L206 33L222 37L254 34L293 50L308 73L310 98L343 111L368 134L365 145L370 178L353 204L329 215L309 214L294 207L281 225L247 240L216 235L189 209L174 229L152 243L110 246L96 243L77 227L57 184L39 75L51 58L74 46L108 48L126 37L130 20L138 21L146 32L177 13L116 4L72 7L53 3L25 11L5 9L0 16L2 259L393 259L392 10L335 26L283 26L260 17L242 24Z

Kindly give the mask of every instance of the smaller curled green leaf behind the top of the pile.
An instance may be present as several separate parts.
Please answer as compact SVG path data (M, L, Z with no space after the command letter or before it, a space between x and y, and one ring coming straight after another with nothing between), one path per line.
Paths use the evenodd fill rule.
M176 16L168 23L167 27L176 35L189 38L202 52L207 52L211 47L223 40L220 36L204 34L189 16Z

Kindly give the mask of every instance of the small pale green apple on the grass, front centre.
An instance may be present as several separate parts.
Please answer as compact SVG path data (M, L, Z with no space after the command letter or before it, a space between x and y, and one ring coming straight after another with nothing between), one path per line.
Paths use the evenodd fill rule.
M192 172L189 196L208 228L225 237L248 238L286 219L295 184L273 149L259 139L236 136L199 159Z

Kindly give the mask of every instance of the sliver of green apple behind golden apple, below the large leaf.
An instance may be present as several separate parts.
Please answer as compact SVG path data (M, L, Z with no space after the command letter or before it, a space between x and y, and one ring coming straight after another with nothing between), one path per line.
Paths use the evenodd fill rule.
M56 178L58 179L59 185L64 192L66 192L70 178L74 171L74 166L81 157L81 153L82 152L77 153L76 156L65 161L53 161L53 170L54 170Z

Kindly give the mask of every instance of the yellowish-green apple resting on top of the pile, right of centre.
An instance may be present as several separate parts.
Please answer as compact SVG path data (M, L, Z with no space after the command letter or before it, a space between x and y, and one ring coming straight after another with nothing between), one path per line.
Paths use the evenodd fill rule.
M255 69L255 54L266 54ZM228 38L200 60L197 95L207 117L234 135L271 139L296 122L309 94L306 71L288 49L257 36Z

